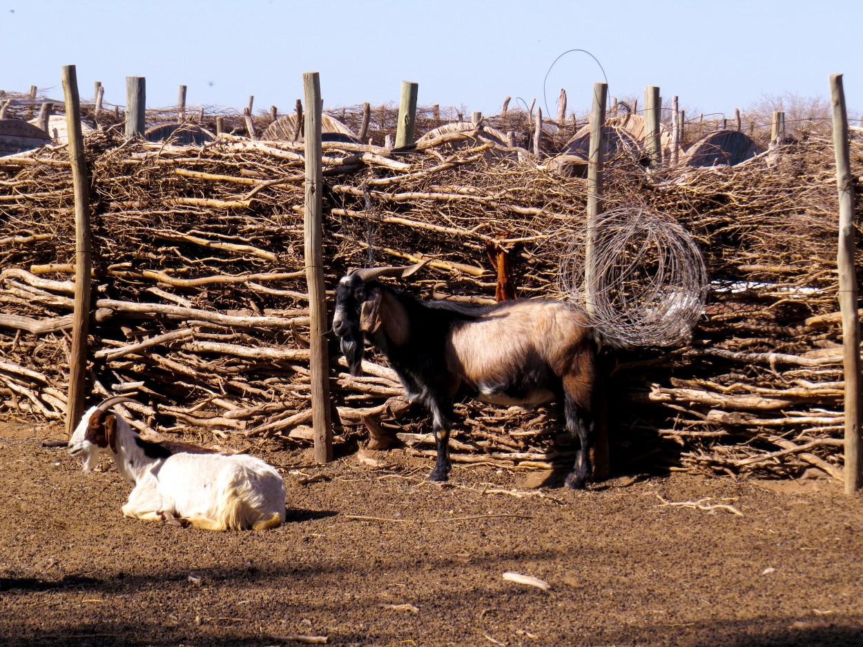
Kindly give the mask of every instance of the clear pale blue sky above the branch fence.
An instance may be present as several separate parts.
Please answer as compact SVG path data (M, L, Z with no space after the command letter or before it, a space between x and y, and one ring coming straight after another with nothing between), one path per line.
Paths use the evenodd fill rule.
M785 93L828 97L844 73L849 116L863 110L863 3L840 0L0 0L0 89L30 85L62 97L60 68L76 66L82 98L94 81L125 103L125 78L147 79L148 107L190 105L293 110L302 73L320 72L324 107L397 102L402 80L419 104L491 115L504 97L536 97L557 111L658 85L692 115L745 109ZM545 108L547 102L548 110Z

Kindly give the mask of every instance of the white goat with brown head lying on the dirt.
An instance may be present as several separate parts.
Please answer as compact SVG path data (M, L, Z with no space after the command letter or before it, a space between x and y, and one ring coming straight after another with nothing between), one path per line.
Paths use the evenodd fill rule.
M186 443L152 443L138 437L122 416L109 412L119 396L92 407L69 440L84 457L84 471L110 453L117 471L135 484L123 506L126 517L177 519L211 531L263 530L285 521L285 482L260 458L224 455Z

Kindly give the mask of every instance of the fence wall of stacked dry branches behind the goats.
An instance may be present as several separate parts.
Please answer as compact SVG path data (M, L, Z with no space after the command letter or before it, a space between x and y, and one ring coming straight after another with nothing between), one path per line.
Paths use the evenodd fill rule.
M396 158L325 144L329 287L347 267L430 258L409 287L420 296L488 302L501 284L521 297L556 295L559 263L583 225L583 179L560 178L481 131L467 135ZM853 150L860 168L863 146ZM302 149L103 134L87 155L96 391L141 393L142 428L308 442ZM608 354L602 392L616 455L628 447L631 459L650 454L698 470L838 474L829 142L812 138L732 168L609 167L617 170L607 175L608 205L676 217L713 280L689 346ZM0 414L60 418L74 257L64 150L0 160L0 243ZM424 453L425 420L394 374L367 361L366 375L350 378L335 343L331 357L340 437L397 427ZM457 460L547 467L569 454L553 411L461 406L469 433L455 437ZM661 451L675 444L669 438L675 454Z

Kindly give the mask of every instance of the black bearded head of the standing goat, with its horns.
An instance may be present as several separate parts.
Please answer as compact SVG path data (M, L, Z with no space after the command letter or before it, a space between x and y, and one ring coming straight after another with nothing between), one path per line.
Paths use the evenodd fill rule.
M380 328L381 276L404 278L416 272L428 261L409 267L369 267L351 270L339 280L336 288L336 312L332 317L332 330L339 338L344 358L351 375L362 374L362 355L365 353L363 332L374 334Z

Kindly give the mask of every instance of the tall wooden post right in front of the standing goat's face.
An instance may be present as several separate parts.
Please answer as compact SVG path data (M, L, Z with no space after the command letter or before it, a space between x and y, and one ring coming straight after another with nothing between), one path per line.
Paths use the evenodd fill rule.
M312 347L312 427L315 461L332 460L330 419L330 357L327 353L326 292L324 290L323 204L324 147L321 143L321 89L318 72L303 74L306 99L306 282L309 287L309 341Z

